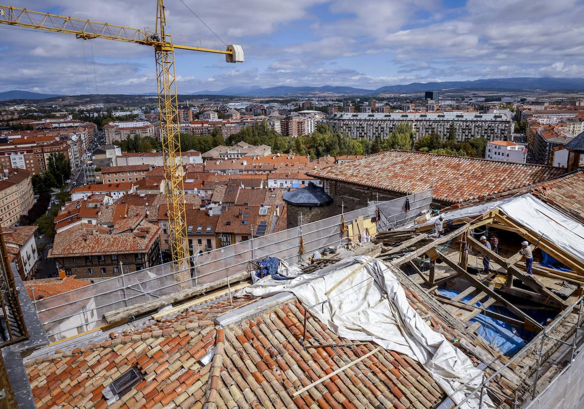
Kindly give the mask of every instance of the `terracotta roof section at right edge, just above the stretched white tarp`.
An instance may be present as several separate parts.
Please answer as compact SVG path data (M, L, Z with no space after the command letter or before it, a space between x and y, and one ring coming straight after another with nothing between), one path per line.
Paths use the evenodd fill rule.
M584 171L537 183L531 193L584 223Z

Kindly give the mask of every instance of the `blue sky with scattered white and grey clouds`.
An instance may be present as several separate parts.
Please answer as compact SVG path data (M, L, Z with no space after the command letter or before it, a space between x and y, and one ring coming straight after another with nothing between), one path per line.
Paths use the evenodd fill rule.
M114 25L155 25L155 0L12 1L15 7ZM230 64L222 54L177 50L181 94L250 86L376 89L479 78L584 77L584 0L165 4L167 32L205 37L221 49L223 43L241 44L245 53L245 63ZM0 72L0 92L156 91L152 47L5 25L0 25Z

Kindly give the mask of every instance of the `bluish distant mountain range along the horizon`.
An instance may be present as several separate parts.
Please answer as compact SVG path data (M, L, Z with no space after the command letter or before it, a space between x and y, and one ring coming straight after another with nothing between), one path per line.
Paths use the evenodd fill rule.
M180 93L189 95L222 95L249 97L293 97L293 96L375 96L383 94L420 93L424 91L495 91L495 92L581 92L584 91L584 78L493 78L474 81L412 82L405 85L388 85L377 89L354 88L352 86L230 86L219 91L199 91ZM156 95L155 92L134 93L133 96ZM46 99L63 95L36 93L29 91L0 92L0 101L11 99Z

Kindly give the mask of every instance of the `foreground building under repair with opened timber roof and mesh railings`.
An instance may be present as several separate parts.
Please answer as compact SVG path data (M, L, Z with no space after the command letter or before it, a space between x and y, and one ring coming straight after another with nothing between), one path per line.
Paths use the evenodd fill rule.
M432 231L434 219L418 218L431 194L376 203L215 251L197 260L189 288L179 292L164 266L109 287L83 287L95 318L71 309L79 303L76 292L40 300L41 322L56 342L26 358L34 401L86 408L578 408L584 226L554 204L551 189L546 195L544 201L519 192L446 209L440 237ZM480 235L495 237L497 245L486 248ZM533 276L517 255L523 240L537 261ZM308 264L322 249L325 255ZM326 304L316 307L297 293L235 294L252 294L250 273L270 256L296 264L300 278L326 280L354 255L383 264L411 306L409 317L463 353L482 379L452 390L432 365L382 348L358 325L352 336L335 332L339 326L322 317L341 311L331 309L327 294L359 286L353 280L361 267L330 282L317 294ZM395 311L391 303L383 300L386 313ZM63 339L71 317L84 325Z

